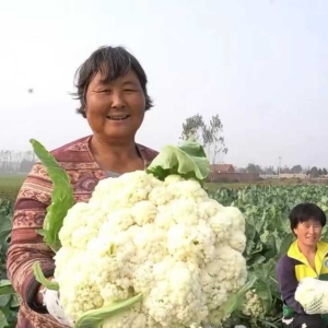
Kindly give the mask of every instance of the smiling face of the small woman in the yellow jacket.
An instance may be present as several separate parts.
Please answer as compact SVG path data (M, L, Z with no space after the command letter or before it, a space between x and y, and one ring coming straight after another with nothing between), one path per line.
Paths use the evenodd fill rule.
M304 246L315 246L320 239L321 231L320 222L315 220L300 222L294 229L298 242Z

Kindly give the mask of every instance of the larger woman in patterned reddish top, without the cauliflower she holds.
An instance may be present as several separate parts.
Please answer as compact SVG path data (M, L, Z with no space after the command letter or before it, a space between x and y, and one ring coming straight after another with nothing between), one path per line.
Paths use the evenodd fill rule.
M147 82L139 61L122 48L96 50L78 71L78 113L86 118L93 134L52 152L70 176L75 201L86 201L98 180L144 169L156 156L134 142L144 113L152 107ZM54 254L36 233L43 227L51 191L45 167L35 164L16 200L8 254L9 277L22 297L17 328L62 327L46 314L32 270L38 260L47 277L54 274Z

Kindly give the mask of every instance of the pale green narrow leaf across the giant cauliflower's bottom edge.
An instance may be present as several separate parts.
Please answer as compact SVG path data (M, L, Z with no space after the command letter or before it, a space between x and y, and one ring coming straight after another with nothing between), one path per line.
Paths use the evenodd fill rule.
M119 312L129 308L131 305L139 302L141 297L142 294L138 294L137 296L125 301L115 302L101 308L87 311L77 320L74 328L102 328L105 320L115 316Z

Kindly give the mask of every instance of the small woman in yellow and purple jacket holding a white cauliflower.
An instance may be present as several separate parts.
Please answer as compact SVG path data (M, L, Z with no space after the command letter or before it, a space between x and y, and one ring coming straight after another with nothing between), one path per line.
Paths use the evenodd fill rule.
M328 244L320 241L326 214L316 204L301 203L291 211L290 222L296 241L277 265L284 327L328 327L327 292L324 297L319 292L325 285L327 291L328 280ZM325 281L324 289L318 280Z

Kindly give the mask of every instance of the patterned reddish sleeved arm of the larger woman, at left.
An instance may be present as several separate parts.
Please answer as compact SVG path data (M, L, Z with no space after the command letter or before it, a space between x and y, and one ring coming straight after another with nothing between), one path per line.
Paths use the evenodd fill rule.
M7 261L13 288L32 309L39 313L46 313L46 309L42 306L40 284L35 280L32 267L39 261L47 278L54 274L54 253L36 232L43 227L51 192L52 184L45 168L35 164L15 202Z

